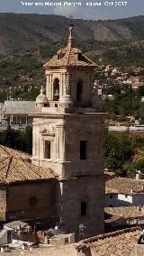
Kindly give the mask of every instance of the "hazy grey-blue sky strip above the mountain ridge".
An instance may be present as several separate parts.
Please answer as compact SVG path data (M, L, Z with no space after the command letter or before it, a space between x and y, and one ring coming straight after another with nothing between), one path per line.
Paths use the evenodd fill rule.
M68 3L76 3L75 0L65 1ZM23 3L41 3L44 6L26 6L22 5ZM78 3L81 3L82 6L45 6L45 2L54 3L54 0L0 0L0 13L17 13L17 14L59 14L59 15L73 15L74 18L83 18L83 19L116 19L116 18L123 18L123 17L130 17L130 16L137 16L137 15L144 15L144 0L118 0L118 1L106 1L106 0L80 0ZM55 3L59 3L64 1L58 1ZM101 6L93 6L87 7L86 3L100 3ZM105 3L106 2L106 3ZM107 3L113 2L113 6L105 6ZM115 2L119 2L122 5L123 2L127 2L126 6L115 6ZM105 3L105 5L104 5Z

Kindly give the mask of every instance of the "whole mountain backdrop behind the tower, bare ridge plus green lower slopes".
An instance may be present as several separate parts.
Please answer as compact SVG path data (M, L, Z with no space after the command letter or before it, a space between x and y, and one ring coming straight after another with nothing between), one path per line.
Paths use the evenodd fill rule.
M66 45L70 22L58 15L0 14L0 101L35 99L45 85L42 64ZM76 47L97 64L144 67L144 16L72 22Z

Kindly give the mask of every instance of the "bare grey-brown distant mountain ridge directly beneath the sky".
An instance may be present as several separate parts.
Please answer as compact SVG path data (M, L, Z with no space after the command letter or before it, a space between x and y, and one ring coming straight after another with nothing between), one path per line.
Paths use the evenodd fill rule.
M36 50L40 46L64 44L70 19L59 15L0 14L0 54ZM76 44L95 50L96 41L144 38L144 16L116 21L73 20ZM79 42L79 43L78 43ZM83 43L82 43L83 42Z

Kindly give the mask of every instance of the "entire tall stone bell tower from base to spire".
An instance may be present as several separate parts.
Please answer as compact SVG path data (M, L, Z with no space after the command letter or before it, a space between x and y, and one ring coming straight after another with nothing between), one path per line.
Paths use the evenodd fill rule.
M46 96L36 99L32 163L58 175L57 216L67 233L103 233L103 118L92 104L95 63L73 46L44 64Z

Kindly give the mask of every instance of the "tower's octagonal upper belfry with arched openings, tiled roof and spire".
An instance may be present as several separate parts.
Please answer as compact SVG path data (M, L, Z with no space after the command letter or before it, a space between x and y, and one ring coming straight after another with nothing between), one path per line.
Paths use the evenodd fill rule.
M46 96L49 104L60 101L61 96L71 96L74 105L89 105L94 84L95 63L73 47L73 27L69 27L67 48L44 64L47 78ZM57 103L55 103L57 105Z

